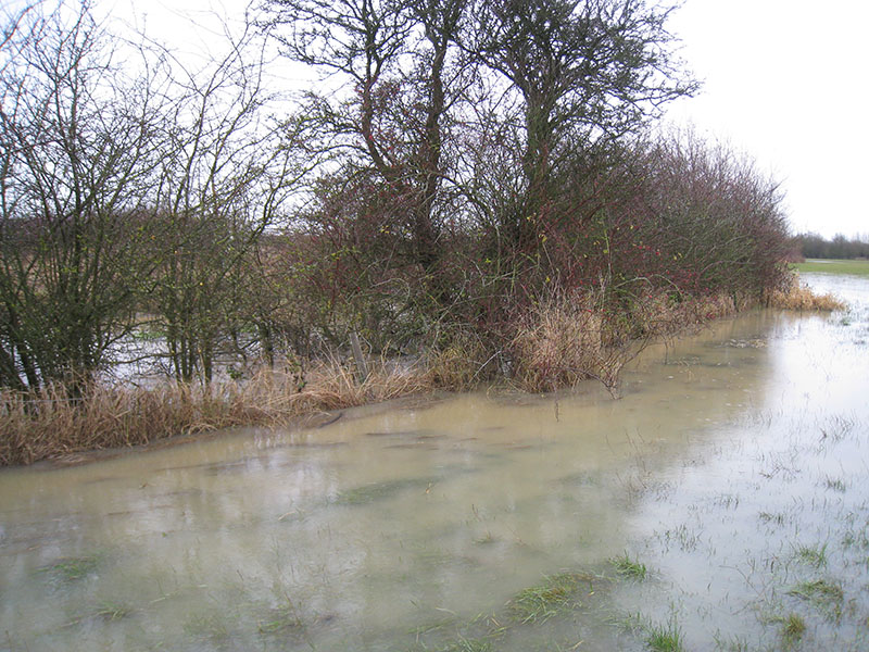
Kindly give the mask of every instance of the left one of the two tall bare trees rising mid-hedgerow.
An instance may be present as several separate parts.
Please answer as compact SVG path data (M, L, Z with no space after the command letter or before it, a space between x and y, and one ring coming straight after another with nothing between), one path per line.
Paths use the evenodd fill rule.
M449 114L462 92L456 41L467 0L269 0L266 25L290 59L326 72L310 93L323 151L377 195L403 264L437 276L443 256ZM337 86L337 88L335 88ZM373 174L371 174L373 173ZM389 204L383 200L389 198Z

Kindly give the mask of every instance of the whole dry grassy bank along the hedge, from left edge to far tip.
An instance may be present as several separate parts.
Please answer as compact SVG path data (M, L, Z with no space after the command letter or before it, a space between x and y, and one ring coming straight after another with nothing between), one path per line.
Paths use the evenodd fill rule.
M767 303L792 310L836 310L841 302L798 283ZM541 303L519 321L515 336L492 350L479 339L453 338L412 365L380 360L361 379L351 362L312 365L300 375L265 368L243 381L155 388L96 385L84 397L50 386L38 392L0 391L0 465L32 464L81 451L150 444L178 435L234 426L281 426L305 415L436 389L462 391L481 384L540 392L593 378L615 388L622 366L645 343L672 337L748 305L717 296L701 300L667 294L635 301L616 315L595 309L593 297ZM499 360L493 372L493 361ZM506 373L505 373L506 372Z

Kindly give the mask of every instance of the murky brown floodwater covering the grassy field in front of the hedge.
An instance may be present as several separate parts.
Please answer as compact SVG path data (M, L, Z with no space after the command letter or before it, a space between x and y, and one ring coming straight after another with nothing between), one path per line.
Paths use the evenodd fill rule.
M0 650L867 650L869 279L806 280L851 309L656 346L619 400L3 471Z

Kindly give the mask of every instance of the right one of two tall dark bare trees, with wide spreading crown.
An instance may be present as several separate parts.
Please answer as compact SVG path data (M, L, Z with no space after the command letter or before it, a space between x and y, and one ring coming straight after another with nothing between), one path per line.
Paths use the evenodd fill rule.
M494 0L476 7L476 32L466 47L520 98L525 191L503 215L502 231L521 250L538 248L544 206L561 192L565 173L577 174L577 154L588 158L695 89L670 53L670 11L642 0Z

